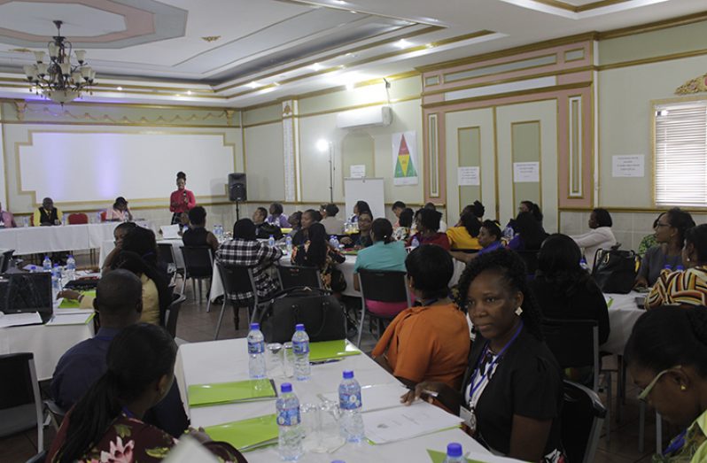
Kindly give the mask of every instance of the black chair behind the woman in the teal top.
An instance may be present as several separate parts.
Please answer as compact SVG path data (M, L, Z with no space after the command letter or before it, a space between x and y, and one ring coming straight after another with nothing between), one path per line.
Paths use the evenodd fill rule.
M378 336L383 331L382 320L392 320L393 317L380 317L375 313L370 313L366 301L380 302L405 302L411 306L410 293L405 272L385 272L378 270L361 269L358 272L359 287L361 288L361 320L359 320L359 334L356 345L361 345L361 335L363 334L363 322L366 313L369 317L378 321Z

